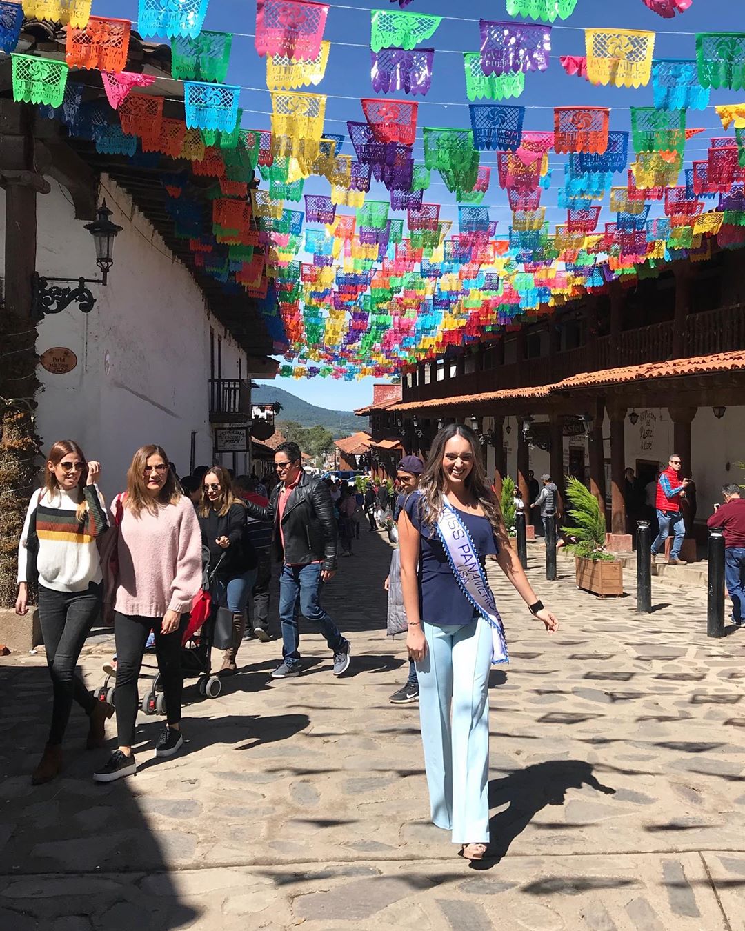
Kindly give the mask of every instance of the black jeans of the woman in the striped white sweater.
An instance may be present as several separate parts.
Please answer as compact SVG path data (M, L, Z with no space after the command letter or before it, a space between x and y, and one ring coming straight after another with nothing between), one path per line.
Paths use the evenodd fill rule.
M60 745L73 700L90 714L96 700L75 672L93 621L101 614L102 587L91 582L85 591L54 591L39 586L39 621L54 690L50 744Z

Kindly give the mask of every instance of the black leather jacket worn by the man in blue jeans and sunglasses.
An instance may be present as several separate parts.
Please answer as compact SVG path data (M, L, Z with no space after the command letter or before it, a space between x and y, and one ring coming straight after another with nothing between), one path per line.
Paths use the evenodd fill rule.
M333 572L336 569L338 530L328 486L302 472L297 487L290 492L285 505L280 534L278 499L282 487L280 483L272 490L268 507L247 501L246 510L251 517L274 525L272 546L278 560L294 566L305 566L322 560L322 568Z

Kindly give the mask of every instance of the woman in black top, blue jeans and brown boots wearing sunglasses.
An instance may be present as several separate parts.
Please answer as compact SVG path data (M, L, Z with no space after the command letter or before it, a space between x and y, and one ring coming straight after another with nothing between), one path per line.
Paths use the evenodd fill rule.
M202 479L202 500L196 514L202 544L210 549L217 604L233 614L233 641L224 652L218 675L233 676L246 630L246 605L256 581L257 560L246 533L246 506L233 493L233 482L223 466L212 466Z

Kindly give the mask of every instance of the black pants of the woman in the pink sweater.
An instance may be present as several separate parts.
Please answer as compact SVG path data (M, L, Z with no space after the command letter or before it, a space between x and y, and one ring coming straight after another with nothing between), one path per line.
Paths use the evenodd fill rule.
M116 641L116 734L119 747L131 747L134 743L134 725L137 720L137 677L140 675L142 656L145 653L147 635L156 634L157 668L166 696L166 720L169 724L181 721L181 695L183 672L181 668L181 640L183 629L189 619L182 614L178 630L162 634L162 617L139 617L114 614L114 637Z

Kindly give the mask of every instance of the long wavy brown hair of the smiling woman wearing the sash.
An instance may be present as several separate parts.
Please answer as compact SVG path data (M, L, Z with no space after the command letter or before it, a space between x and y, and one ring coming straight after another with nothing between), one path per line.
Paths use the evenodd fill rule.
M427 465L422 473L422 478L419 479L419 491L422 492L422 517L425 523L430 527L434 527L440 519L442 495L445 492L445 470L442 468L442 460L446 444L454 437L467 439L473 453L473 467L466 479L468 491L483 507L483 512L489 519L489 523L494 527L495 533L500 537L504 536L502 509L486 479L481 443L473 430L462 424L443 426L432 442L432 448L427 457Z

